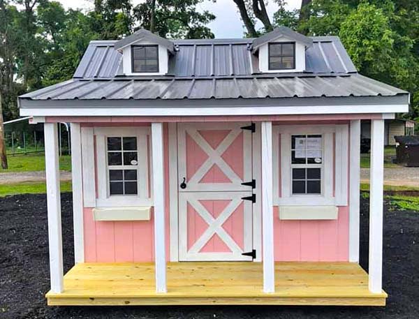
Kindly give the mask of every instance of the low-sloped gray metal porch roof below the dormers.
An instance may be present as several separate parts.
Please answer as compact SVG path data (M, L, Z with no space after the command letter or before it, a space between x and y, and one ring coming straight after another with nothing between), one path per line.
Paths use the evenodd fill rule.
M362 75L68 80L20 96L31 100L176 100L395 96L405 91Z

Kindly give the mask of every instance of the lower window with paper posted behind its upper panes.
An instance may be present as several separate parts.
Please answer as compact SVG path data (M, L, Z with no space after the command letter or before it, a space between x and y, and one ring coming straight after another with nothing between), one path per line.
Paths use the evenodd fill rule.
M291 135L291 193L321 194L322 135Z

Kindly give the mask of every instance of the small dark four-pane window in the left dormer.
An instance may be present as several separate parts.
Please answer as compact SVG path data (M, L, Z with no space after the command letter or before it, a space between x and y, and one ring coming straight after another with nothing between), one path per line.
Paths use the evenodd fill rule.
M131 55L133 73L159 72L159 45L133 45Z

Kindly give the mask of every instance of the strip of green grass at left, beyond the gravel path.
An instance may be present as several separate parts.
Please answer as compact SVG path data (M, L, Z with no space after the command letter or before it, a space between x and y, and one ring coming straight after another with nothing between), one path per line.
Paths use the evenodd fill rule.
M8 156L7 170L0 168L2 172L31 172L45 170L45 156L43 153ZM71 156L63 155L59 158L59 169L71 171Z

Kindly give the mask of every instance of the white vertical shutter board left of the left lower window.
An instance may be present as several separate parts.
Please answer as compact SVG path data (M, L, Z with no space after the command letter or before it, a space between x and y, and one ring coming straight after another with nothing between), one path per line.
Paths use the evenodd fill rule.
M96 207L96 176L94 170L93 128L82 127L83 205Z

